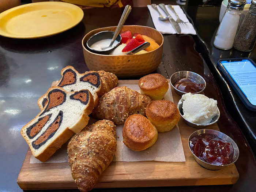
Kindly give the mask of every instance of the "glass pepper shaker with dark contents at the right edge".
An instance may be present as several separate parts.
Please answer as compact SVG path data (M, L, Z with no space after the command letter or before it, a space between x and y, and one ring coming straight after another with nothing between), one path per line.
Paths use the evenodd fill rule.
M251 51L256 41L256 0L246 14L234 41L234 48L240 51Z

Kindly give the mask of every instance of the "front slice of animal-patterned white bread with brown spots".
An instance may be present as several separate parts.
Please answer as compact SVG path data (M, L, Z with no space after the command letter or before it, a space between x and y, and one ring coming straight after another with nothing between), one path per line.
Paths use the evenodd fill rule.
M61 87L52 87L46 98L42 111L20 131L32 154L43 162L87 125L94 108L89 90L68 93Z

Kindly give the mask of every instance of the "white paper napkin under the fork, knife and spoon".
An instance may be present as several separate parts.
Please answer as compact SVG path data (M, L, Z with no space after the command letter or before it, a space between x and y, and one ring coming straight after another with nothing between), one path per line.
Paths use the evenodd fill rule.
M176 34L176 31L172 24L169 22L169 20L162 21L159 20L159 14L156 10L154 10L151 5L147 5L148 10L150 12L150 15L152 17L155 29L157 29L160 33L162 34ZM165 5L167 11L169 14L172 16L174 20L177 20L175 13L173 10L169 9L167 5ZM166 16L165 12L157 5L158 11L163 15ZM189 22L187 16L184 14L183 10L180 8L179 5L173 5L173 8L175 12L178 14L179 18L184 21L184 22ZM178 23L178 25L181 28L181 33L182 34L192 34L196 35L196 31L191 23Z

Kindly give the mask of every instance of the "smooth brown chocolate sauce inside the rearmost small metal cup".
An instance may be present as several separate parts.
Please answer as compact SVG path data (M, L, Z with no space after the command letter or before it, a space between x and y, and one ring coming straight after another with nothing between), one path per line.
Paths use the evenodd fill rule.
M190 79L184 78L177 80L177 82L174 84L174 87L186 93L197 93L203 89L204 84L197 84Z

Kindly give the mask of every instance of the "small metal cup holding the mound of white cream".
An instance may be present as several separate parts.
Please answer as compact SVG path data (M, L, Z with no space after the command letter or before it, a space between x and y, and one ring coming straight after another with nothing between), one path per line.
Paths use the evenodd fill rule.
M210 123L208 123L208 124L193 123L193 122L191 122L191 121L189 121L189 120L187 120L186 118L183 117L183 114L184 114L183 113L183 109L182 109L183 102L184 102L184 99L180 99L180 101L178 102L177 108L178 108L178 110L180 112L180 116L184 119L185 123L187 125L189 125L190 127L201 129L201 128L207 127L209 125L212 125L212 124L216 123L219 120L220 113L219 113L219 108L218 108L217 115L212 118Z

